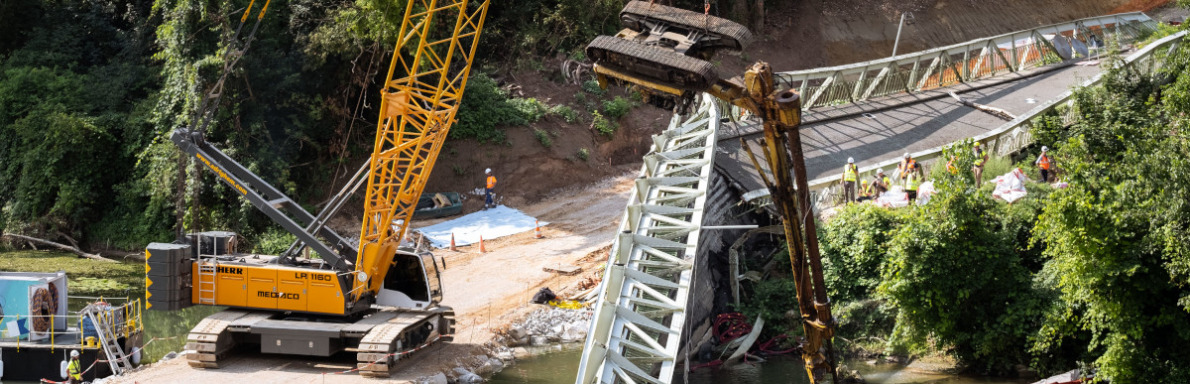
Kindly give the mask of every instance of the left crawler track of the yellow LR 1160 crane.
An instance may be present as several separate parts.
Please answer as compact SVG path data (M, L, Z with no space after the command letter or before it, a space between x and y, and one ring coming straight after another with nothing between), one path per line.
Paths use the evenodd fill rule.
M236 346L230 328L240 323L250 325L271 315L265 311L226 309L202 319L186 338L186 350L194 351L186 355L186 363L193 367L218 369L219 357Z

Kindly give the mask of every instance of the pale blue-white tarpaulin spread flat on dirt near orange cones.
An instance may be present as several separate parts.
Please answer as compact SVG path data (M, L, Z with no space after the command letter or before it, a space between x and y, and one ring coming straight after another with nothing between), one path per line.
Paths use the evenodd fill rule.
M541 221L541 226L547 224ZM497 206L414 231L421 232L436 247L443 248L450 246L451 233L455 234L456 245L468 245L480 243L481 235L484 240L490 240L533 231L536 225L537 219L533 216L513 208Z

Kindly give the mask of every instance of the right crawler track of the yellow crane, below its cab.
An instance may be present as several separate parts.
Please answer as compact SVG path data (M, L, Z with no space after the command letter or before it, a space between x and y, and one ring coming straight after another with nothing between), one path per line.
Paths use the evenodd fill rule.
M356 367L359 376L387 378L397 360L437 341L453 339L455 311L397 311L359 340ZM450 338L447 338L450 336Z

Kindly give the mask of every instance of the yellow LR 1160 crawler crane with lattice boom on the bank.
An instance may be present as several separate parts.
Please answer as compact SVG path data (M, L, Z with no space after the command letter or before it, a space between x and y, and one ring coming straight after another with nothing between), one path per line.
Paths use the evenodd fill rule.
M213 100L255 34L253 26L240 42L249 6L227 49L223 77L205 95L192 125L170 139L298 240L280 256L238 253L230 232L192 233L148 246L149 308L230 307L190 332L192 366L218 367L236 345L259 345L262 353L356 352L361 374L387 377L405 354L452 339L453 310L439 304L439 260L401 240L455 124L488 6L487 0L406 2L381 89L371 158L317 216L203 139L218 105ZM356 243L325 224L363 184Z

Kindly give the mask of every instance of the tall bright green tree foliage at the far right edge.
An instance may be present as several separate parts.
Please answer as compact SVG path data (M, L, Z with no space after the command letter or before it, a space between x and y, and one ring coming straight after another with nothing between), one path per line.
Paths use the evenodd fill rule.
M1077 92L1082 119L1038 128L1071 185L1038 219L1064 302L1038 348L1089 333L1121 383L1190 380L1190 76L1167 70L1171 84L1114 71Z

